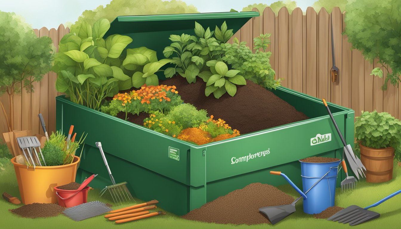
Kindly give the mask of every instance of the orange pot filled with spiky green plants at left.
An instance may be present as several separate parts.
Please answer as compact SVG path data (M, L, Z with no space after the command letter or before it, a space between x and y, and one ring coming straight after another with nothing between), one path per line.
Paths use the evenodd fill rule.
M71 136L72 129L70 129ZM38 153L39 162L34 158L25 164L16 161L17 157L11 159L14 164L15 174L20 190L21 201L24 204L31 203L57 203L57 197L53 188L55 186L69 184L75 181L80 157L75 156L75 151L81 146L86 136L83 135L75 141L75 135L69 140L60 131L52 133L49 141L45 142L42 149L43 159ZM82 147L83 150L83 147ZM81 150L81 154L82 154Z

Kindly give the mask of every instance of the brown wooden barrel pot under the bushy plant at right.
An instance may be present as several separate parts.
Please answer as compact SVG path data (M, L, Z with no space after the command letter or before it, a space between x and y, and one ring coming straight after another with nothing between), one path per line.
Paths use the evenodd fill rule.
M394 148L375 149L360 146L360 160L366 167L366 181L380 183L393 178Z

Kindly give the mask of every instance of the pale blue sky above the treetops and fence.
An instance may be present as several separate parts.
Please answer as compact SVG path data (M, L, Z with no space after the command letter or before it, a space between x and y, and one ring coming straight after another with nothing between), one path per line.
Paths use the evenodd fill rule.
M15 12L25 18L32 28L57 28L60 24L75 22L85 10L107 5L111 0L0 0L0 10ZM199 12L227 12L242 10L254 3L271 4L277 0L182 0L194 5ZM316 0L295 0L306 11Z

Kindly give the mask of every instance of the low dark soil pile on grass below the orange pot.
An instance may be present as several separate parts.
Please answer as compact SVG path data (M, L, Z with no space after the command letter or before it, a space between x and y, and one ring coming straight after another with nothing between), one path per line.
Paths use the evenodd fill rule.
M33 203L29 205L24 205L16 209L10 209L14 214L20 215L26 218L36 218L36 217L51 217L57 216L64 211L64 207L57 204L40 204Z

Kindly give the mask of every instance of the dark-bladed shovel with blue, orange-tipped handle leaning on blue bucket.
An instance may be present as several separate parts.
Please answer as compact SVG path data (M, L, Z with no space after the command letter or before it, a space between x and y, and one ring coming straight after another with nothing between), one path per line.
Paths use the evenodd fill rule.
M331 170L332 168L330 168ZM326 172L326 174L324 174L318 181L316 181L316 183L314 183L312 185L312 187L310 187L305 193L303 193L291 180L290 178L288 178L288 176L286 176L286 174L282 173L282 172L275 172L275 171L270 171L270 174L273 175L282 175L287 181L288 183L290 183L290 185L299 193L301 194L300 197L298 197L294 202L292 202L289 205L279 205L279 206L269 206L269 207L262 207L259 208L259 211L263 214L265 214L267 216L267 219L269 219L269 221L271 222L271 224L276 224L279 221L281 221L282 219L286 218L287 216L291 215L292 213L294 213L296 211L295 209L295 205L296 203L302 198L304 197L304 200L306 200L308 197L306 197L306 194L314 187L316 186L316 184L318 184L320 182L320 180L322 180L329 172L330 170L328 170L328 172Z

